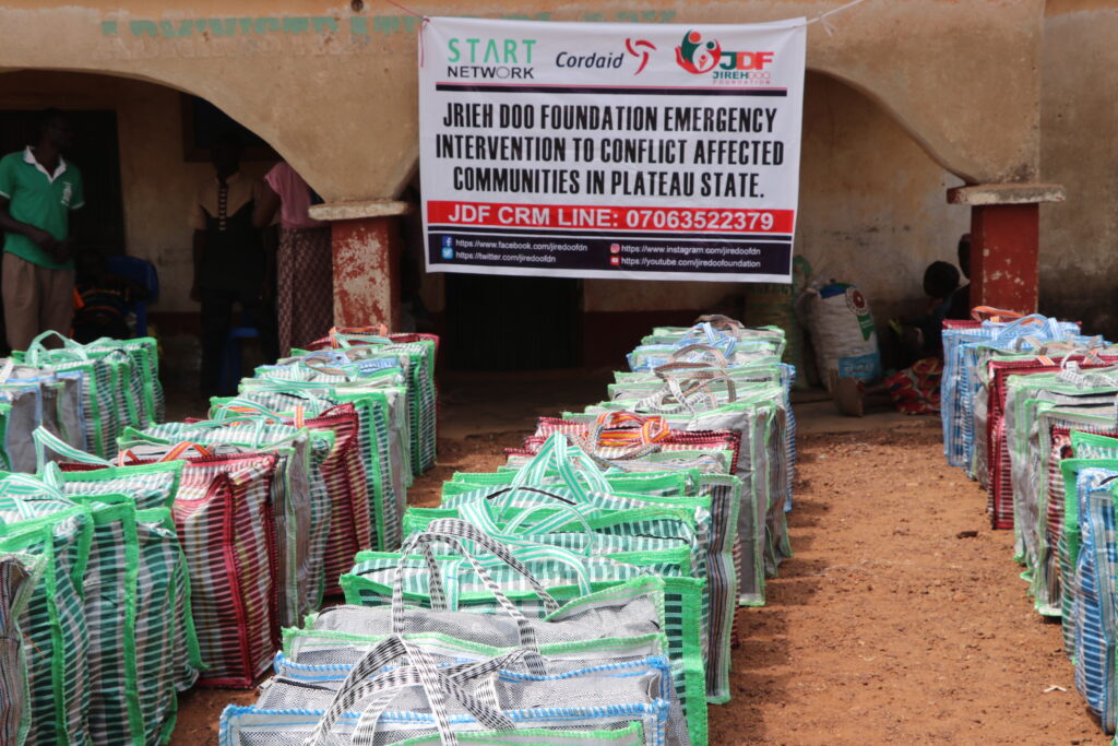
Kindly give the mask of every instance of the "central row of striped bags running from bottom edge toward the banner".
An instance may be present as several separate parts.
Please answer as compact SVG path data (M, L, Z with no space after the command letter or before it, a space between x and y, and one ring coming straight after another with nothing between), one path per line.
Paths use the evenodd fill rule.
M608 400L360 551L348 605L284 631L220 743L705 744L736 610L790 555L783 347L723 318L656 330Z

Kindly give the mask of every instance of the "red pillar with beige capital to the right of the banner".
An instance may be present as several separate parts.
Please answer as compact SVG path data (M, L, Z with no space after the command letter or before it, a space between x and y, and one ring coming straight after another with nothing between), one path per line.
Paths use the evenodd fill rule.
M970 305L1034 313L1040 295L1040 205L1062 202L1058 185L959 187L953 205L970 206Z

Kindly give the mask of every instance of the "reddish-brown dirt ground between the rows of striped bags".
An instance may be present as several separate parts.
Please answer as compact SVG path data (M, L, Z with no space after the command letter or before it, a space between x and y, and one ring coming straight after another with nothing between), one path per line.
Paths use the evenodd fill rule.
M454 471L492 470L519 434L439 444L410 494L437 503ZM796 556L768 605L742 611L733 700L711 744L1106 744L1063 655L992 531L985 495L944 462L938 421L800 440ZM1053 688L1058 687L1058 689ZM193 691L174 746L216 744L226 703Z

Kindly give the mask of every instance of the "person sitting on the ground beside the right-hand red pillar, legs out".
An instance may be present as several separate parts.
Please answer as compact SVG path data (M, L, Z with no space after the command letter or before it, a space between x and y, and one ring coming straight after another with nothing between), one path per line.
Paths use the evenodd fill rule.
M839 412L861 417L870 405L892 404L908 415L939 412L939 380L944 372L942 325L951 298L959 285L959 271L947 262L932 262L923 273L923 292L931 299L928 311L916 319L890 324L909 346L909 367L880 384L865 386L854 378L832 372L831 391Z

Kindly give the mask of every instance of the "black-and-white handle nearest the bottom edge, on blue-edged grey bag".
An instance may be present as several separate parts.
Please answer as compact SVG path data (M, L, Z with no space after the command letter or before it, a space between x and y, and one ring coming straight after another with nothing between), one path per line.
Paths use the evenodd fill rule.
M366 680L370 673L385 668L391 661L405 655L409 661L411 661L410 672L400 672L392 676L394 672L388 671L372 678L371 680ZM330 730L333 728L338 719L348 712L356 702L368 697L369 695L378 695L375 706L383 709L383 707L388 706L400 689L408 686L415 686L411 683L405 683L405 681L410 682L416 679L418 679L419 686L423 687L424 693L427 696L432 714L434 715L436 726L438 727L439 738L445 746L457 746L458 743L457 737L451 729L449 718L446 711L445 696L447 693L458 700L458 702L462 703L462 706L465 707L471 715L476 717L480 723L484 723L487 727L492 726L495 730L512 729L512 723L508 718L496 710L482 705L474 697L461 689L456 683L442 676L438 672L438 667L435 664L435 660L427 651L423 650L418 645L407 642L401 636L394 634L392 636L378 643L377 646L373 648L358 665L353 667L350 674L342 683L342 687L334 695L333 701L322 714L322 718L315 726L314 731L304 742L305 746L328 746L332 743L330 739ZM383 696L389 691L392 692L392 697L385 698ZM378 711L376 717L379 718L379 716ZM376 729L375 723L371 728L372 730Z

